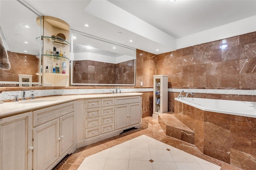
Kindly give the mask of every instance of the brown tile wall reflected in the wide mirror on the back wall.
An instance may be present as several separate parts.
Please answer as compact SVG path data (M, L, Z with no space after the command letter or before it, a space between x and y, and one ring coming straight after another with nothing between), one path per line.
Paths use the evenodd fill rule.
M80 60L73 65L73 83L134 84L134 60L118 64Z

